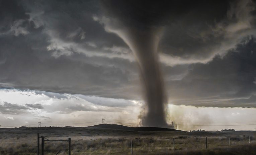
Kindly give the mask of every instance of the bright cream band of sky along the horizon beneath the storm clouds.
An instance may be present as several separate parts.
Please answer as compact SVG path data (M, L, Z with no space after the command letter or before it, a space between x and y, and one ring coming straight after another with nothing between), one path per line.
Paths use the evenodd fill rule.
M143 101L81 94L0 89L0 122L1 127L37 127L38 121L41 121L41 126L90 126L102 123L104 118L109 124L140 126L138 116L143 104ZM255 112L255 108L195 107L169 103L167 121L170 124L174 121L177 129L187 131L253 130L256 125L248 124L256 124Z

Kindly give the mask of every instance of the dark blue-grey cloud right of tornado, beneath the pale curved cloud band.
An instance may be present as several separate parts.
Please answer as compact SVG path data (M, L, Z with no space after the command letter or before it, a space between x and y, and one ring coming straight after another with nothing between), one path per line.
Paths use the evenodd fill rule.
M207 64L190 65L182 80L169 83L171 98L183 98L179 104L255 107L255 51L255 38L247 37L223 58L216 55Z

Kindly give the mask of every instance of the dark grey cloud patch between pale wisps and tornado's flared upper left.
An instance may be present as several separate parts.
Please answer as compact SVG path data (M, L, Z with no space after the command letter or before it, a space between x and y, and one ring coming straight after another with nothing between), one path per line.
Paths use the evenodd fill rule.
M23 5L30 20L45 25L46 31L51 31L63 41L89 42L89 47L125 46L117 36L105 32L100 24L93 21L92 16L100 12L98 1L24 1Z

